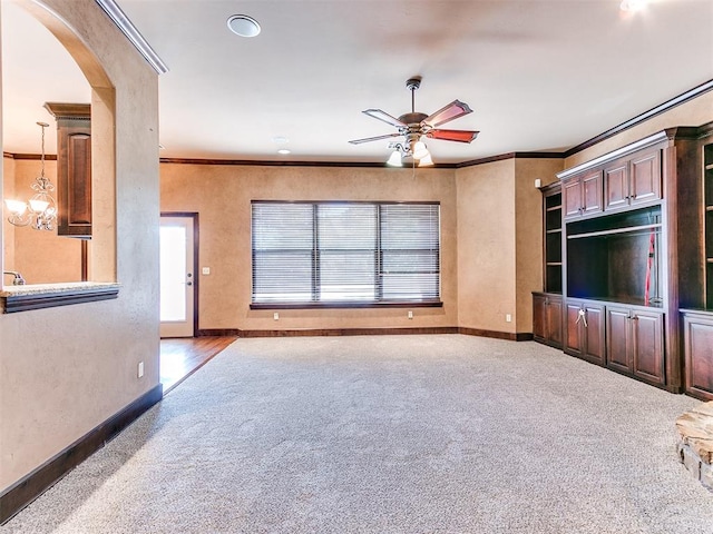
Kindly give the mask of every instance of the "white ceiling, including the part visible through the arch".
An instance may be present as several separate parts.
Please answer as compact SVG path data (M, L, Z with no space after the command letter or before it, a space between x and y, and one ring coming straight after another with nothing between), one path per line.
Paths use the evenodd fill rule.
M428 141L436 162L561 151L713 79L713 1L118 0L169 71L159 77L165 158L384 161L394 131L361 113L458 98L473 112ZM253 39L226 21L262 24ZM2 0L4 151L37 152L46 101L88 102L79 69L38 22ZM691 125L697 126L697 125ZM48 136L48 152L53 151ZM287 138L289 156L276 137Z

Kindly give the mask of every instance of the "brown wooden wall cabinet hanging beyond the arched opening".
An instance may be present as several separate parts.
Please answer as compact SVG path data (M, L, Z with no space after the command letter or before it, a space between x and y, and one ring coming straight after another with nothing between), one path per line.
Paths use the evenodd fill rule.
M57 120L57 235L91 237L91 106L47 102Z

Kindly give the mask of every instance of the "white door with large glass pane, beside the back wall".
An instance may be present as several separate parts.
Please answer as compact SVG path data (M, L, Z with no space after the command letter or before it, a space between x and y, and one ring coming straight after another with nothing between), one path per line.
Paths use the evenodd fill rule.
M160 337L194 336L193 220L160 218Z

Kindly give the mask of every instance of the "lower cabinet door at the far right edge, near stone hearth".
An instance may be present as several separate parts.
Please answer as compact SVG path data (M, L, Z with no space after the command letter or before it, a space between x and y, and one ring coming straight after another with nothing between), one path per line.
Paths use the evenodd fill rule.
M713 315L684 315L686 392L713 400Z

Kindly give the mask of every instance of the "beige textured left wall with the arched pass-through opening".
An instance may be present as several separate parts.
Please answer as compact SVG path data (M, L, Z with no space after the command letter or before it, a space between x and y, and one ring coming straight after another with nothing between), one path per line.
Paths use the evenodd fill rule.
M92 270L123 287L116 300L0 315L0 491L158 384L157 75L94 0L21 4L92 86Z

